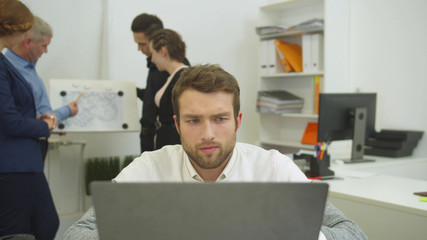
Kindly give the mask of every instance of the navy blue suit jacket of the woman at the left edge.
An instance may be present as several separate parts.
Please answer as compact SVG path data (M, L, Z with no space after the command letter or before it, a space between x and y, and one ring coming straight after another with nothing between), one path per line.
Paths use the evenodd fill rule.
M48 136L30 85L0 53L0 172L43 171L39 138Z

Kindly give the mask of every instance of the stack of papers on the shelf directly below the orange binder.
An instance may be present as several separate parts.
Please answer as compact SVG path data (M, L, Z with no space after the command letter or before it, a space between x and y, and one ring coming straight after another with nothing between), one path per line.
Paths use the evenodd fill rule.
M259 113L300 113L304 99L284 90L259 91L257 111Z

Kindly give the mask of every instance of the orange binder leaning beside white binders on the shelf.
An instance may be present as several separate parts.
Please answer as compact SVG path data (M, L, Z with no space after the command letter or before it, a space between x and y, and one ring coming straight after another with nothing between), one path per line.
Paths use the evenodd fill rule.
M283 65L286 72L290 72L291 70L295 72L302 72L302 49L298 44L276 39L274 41L274 45L276 45L276 49L281 53L279 55L281 56L282 64L287 63L287 65L290 65L290 69Z

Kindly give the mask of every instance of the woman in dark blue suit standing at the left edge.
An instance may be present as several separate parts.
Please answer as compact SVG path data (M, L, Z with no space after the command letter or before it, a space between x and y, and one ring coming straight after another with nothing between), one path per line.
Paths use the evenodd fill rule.
M52 240L59 227L40 148L56 119L37 117L31 85L2 53L20 44L33 23L23 3L0 1L0 239Z

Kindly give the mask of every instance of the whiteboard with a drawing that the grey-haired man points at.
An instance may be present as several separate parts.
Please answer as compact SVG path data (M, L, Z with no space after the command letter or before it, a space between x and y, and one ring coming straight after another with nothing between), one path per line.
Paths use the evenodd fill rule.
M54 132L139 131L136 86L131 81L50 79L52 108L79 98L79 112Z

